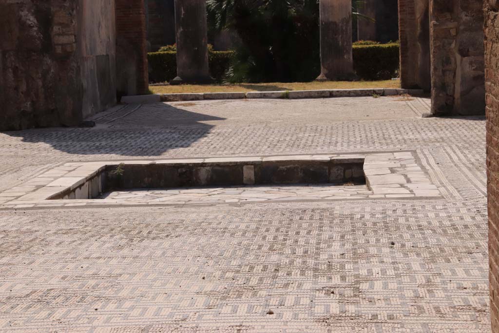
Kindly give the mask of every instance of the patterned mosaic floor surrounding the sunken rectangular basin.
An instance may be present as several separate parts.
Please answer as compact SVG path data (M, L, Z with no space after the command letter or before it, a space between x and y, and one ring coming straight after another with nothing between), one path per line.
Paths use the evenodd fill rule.
M443 199L1 211L0 332L490 331L483 118L388 97L172 105L0 133L0 190L70 161L411 150Z

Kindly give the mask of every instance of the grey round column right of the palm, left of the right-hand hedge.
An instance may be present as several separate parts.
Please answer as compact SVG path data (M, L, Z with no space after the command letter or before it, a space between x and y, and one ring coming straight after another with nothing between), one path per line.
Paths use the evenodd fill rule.
M355 79L352 0L320 0L320 63L317 80Z

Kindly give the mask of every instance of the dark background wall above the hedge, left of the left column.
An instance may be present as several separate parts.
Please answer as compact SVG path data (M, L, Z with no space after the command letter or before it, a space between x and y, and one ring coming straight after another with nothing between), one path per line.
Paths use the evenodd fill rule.
M175 1L145 0L149 50L175 44Z

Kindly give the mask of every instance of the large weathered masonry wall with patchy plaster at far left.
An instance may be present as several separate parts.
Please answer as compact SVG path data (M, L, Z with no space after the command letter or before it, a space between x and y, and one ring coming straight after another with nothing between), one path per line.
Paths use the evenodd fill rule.
M84 18L113 22L113 1L100 2L0 2L0 130L77 125L115 102L114 45Z

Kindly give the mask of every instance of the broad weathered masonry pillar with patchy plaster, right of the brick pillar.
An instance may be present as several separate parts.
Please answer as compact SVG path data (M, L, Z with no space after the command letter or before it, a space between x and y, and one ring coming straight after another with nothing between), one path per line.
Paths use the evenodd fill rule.
M483 1L430 7L432 114L485 114Z

